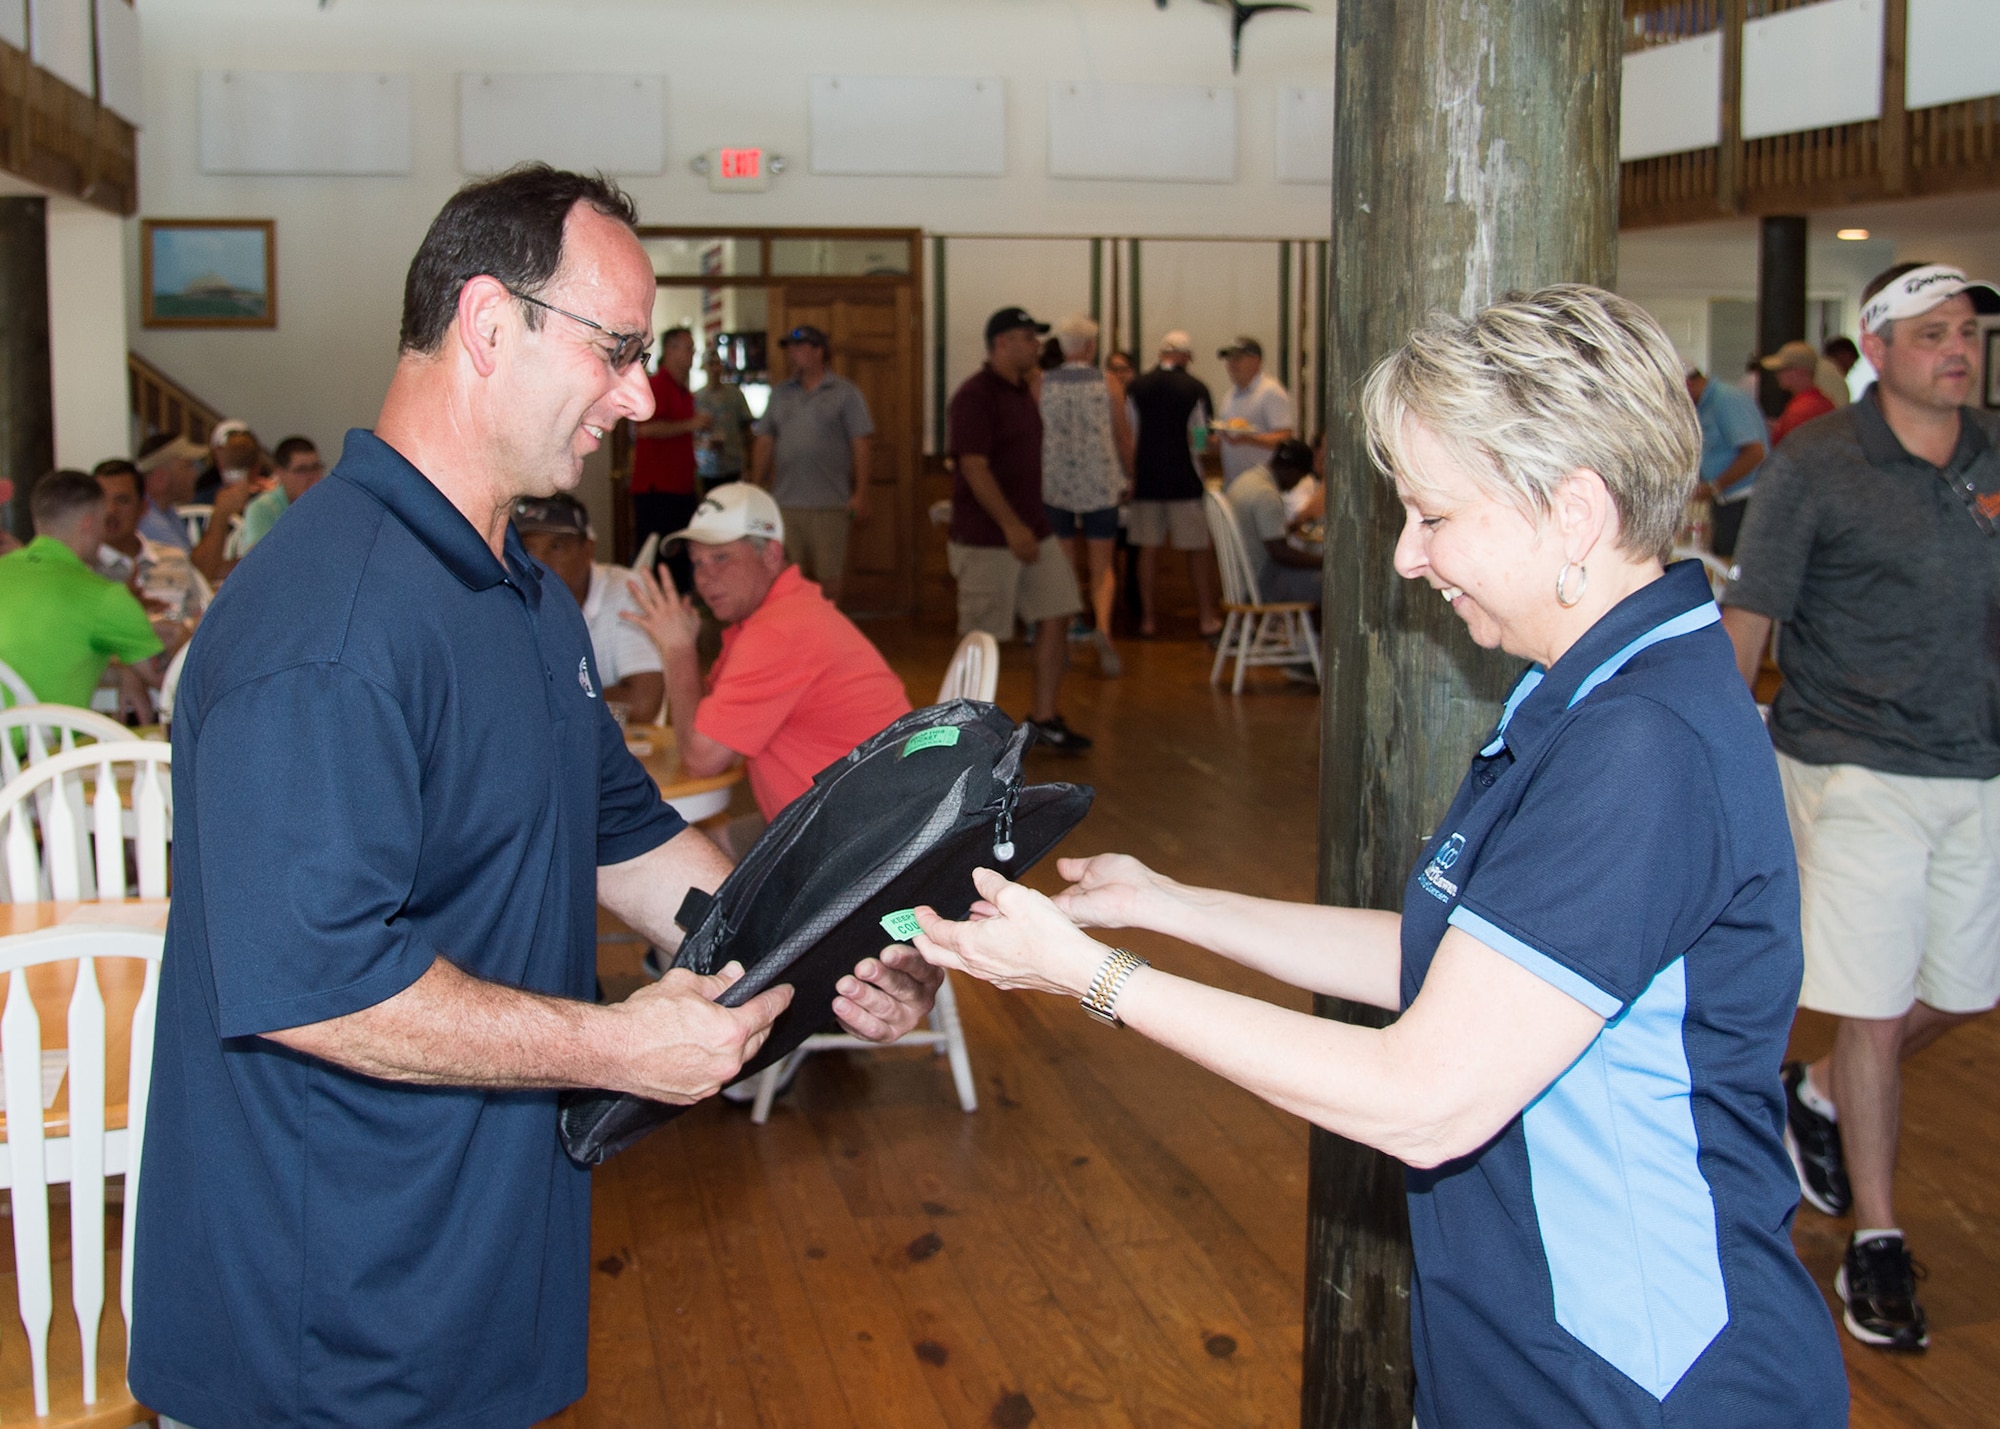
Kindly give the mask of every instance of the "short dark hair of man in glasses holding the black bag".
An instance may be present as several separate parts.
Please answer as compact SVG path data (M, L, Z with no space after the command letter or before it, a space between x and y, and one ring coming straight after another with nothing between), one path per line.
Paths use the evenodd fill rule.
M638 206L604 174L570 174L548 164L518 164L480 178L446 200L410 260L402 282L404 352L432 354L458 314L458 294L478 276L534 294L562 266L562 226L576 204L590 204L626 228ZM542 326L542 310L524 304L522 320Z

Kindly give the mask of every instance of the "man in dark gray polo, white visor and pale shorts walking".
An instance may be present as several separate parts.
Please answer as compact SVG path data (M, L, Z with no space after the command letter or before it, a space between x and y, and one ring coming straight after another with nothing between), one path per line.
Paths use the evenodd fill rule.
M1892 1201L1900 1063L2000 1003L2000 418L1966 406L2000 290L1942 264L1862 296L1878 380L1758 468L1722 614L1770 712L1798 847L1806 985L1834 1051L1784 1069L1806 1201L1854 1211L1848 1331L1930 1343Z

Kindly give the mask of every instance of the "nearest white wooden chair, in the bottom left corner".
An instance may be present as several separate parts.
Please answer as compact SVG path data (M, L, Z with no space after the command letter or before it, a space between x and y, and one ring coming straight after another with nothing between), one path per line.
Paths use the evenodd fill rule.
M140 1143L146 1135L146 1095L152 1079L154 1009L160 989L162 935L128 927L60 927L0 939L0 973L8 979L6 1011L0 1013L0 1067L6 1075L6 1155L0 1157L0 1185L8 1191L14 1223L14 1283L20 1321L28 1335L28 1365L34 1387L34 1423L140 1425L152 1411L132 1399L124 1383L122 1343L132 1333L132 1237L138 1225ZM102 959L142 959L144 983L132 1009L130 1033L106 1035L104 993L98 985ZM44 1069L42 1019L28 991L28 967L76 963L76 983L68 1003L66 1065L50 1057ZM114 975L112 967L104 969ZM112 983L110 987L118 987ZM130 985L128 985L130 987ZM122 1029L118 1029L122 1031ZM122 1087L108 1085L106 1065L116 1067L108 1047L124 1045ZM68 1081L68 1125L60 1135L44 1127L44 1075ZM60 1085L60 1083L58 1083ZM112 1125L122 1121L124 1125ZM98 1383L98 1351L104 1317L104 1179L124 1177L124 1235L116 1249L118 1309L124 1333L114 1335L106 1385ZM50 1329L56 1309L56 1255L48 1227L48 1187L70 1187L70 1323L54 1325L60 1361L50 1365ZM122 1343L120 1343L122 1341ZM76 1361L70 1361L76 1353ZM54 1393L52 1393L54 1379ZM12 1403L20 1399L18 1407ZM28 1417L26 1395L6 1395L8 1421ZM52 1413L54 1411L54 1413Z

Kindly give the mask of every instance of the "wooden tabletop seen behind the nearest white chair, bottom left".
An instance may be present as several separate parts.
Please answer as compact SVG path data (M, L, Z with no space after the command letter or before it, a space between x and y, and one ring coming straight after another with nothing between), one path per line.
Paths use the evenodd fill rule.
M0 939L46 929L116 927L166 933L166 899L128 899L124 903L0 903ZM126 1125L126 1083L132 1069L132 1009L146 985L146 961L106 957L96 961L98 993L104 997L104 1125L116 1131ZM70 1045L70 993L76 989L76 963L44 963L26 969L34 1013L42 1019L42 1051ZM0 989L0 997L4 997ZM70 1079L62 1079L54 1105L42 1115L50 1137L70 1135ZM0 1135L6 1117L0 1115Z

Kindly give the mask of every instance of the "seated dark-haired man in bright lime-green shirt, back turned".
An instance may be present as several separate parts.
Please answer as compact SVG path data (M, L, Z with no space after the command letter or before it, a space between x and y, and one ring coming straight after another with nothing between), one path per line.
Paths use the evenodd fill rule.
M28 498L36 538L0 556L0 660L44 704L90 704L104 666L160 652L146 608L90 568L104 540L104 488L50 472Z

